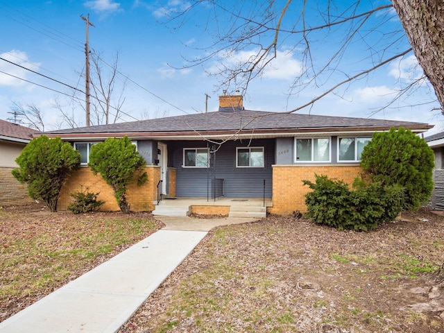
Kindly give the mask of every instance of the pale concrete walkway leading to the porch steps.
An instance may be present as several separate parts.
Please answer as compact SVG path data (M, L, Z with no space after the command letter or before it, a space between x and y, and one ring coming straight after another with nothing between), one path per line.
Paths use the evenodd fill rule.
M157 216L166 227L0 323L0 332L117 332L219 225L255 219Z

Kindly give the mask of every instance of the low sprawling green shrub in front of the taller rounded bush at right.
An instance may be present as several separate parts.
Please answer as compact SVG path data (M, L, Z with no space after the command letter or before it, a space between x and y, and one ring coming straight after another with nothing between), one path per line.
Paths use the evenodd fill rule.
M350 191L342 180L316 176L316 182L304 180L313 191L305 196L307 217L315 223L338 230L368 231L393 221L404 206L404 188L384 186L380 182L359 182Z

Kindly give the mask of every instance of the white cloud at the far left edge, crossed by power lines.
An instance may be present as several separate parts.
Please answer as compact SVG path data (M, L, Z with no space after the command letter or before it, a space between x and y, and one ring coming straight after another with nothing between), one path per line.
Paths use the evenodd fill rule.
M26 85L24 80L19 79L26 79L26 76L31 73L30 71L26 70L26 68L37 71L38 67L40 66L40 63L31 64L31 62L28 62L28 55L23 51L12 50L10 52L1 53L0 57L10 61L0 61L0 71L7 73L0 73L0 85L3 86L20 87ZM14 64L25 68L16 66Z

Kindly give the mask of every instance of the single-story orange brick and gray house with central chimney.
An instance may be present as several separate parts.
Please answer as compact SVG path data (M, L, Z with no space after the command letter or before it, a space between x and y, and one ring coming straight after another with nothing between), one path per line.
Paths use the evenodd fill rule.
M216 112L44 134L71 142L85 166L62 189L62 210L69 204L69 193L80 185L101 192L99 198L107 201L103 210L118 209L110 187L100 176L92 175L87 162L94 143L126 135L145 158L149 180L143 187L130 189L132 210L158 212L157 197L163 194L177 199L164 200L164 204L182 201L191 206L191 212L223 214L231 212L232 205L257 201L270 213L291 214L306 210L309 189L302 180L314 180L317 173L352 182L359 175L361 152L373 133L400 126L413 133L433 127L407 121L245 110L241 95L224 95Z

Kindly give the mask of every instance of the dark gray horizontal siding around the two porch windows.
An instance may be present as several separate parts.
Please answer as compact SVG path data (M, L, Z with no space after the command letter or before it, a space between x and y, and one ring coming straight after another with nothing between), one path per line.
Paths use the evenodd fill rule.
M237 168L236 147L264 147L265 167ZM176 194L180 196L207 196L207 176L205 168L182 168L183 148L204 148L205 142L178 142L173 152L173 166L177 169ZM272 196L273 170L275 162L275 140L260 139L250 142L225 142L216 152L215 176L224 180L224 196L228 198L262 198L264 180L265 196Z

